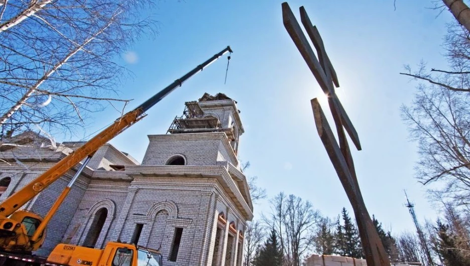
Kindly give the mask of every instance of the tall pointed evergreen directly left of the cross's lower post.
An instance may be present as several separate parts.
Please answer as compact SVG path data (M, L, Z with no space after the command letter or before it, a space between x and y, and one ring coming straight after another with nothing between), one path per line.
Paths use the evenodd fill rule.
M342 255L362 258L363 250L358 229L356 228L356 225L352 223L351 218L344 207L341 210L341 216L343 221L342 231L344 237L344 249L342 250Z

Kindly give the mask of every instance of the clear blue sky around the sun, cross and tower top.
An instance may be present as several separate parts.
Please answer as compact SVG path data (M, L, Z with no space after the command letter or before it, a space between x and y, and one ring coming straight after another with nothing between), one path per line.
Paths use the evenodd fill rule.
M284 191L309 200L335 217L350 204L315 129L310 99L322 92L294 43L281 14L282 1L160 1L155 10L159 35L130 50L134 73L119 88L133 108L222 50L233 49L224 85L226 57L187 81L148 111L148 116L111 141L142 160L147 135L165 134L184 102L204 92L223 92L238 101L245 134L240 159L247 175L270 197ZM442 38L450 13L426 9L425 1L289 1L294 14L304 6L322 36L338 75L338 96L358 131L363 151L352 152L369 212L392 233L413 230L404 193L416 203L418 219L436 217L424 188L413 178L416 145L400 118L415 82L398 73L421 60L445 68ZM323 103L323 109L329 109ZM112 108L96 114L92 132L118 117ZM332 120L330 119L330 123ZM352 145L352 143L349 141ZM269 211L255 206L256 218Z

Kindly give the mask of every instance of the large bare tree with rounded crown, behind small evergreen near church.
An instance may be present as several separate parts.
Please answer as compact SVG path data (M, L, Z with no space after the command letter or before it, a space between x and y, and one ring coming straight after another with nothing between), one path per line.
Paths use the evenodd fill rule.
M271 201L271 213L263 220L279 236L284 264L300 266L303 255L313 247L314 230L320 213L309 201L280 192Z

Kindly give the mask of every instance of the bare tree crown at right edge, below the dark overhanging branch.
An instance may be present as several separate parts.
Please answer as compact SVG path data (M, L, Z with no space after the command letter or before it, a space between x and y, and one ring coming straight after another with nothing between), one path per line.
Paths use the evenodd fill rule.
M429 191L462 204L470 197L469 100L468 93L421 84L411 106L402 107L418 143L417 179Z

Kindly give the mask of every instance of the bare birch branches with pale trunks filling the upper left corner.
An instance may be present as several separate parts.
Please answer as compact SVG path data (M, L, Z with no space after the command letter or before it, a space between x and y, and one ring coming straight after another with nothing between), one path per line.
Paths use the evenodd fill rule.
M1 137L35 126L71 132L116 98L115 63L143 32L144 0L0 2Z

